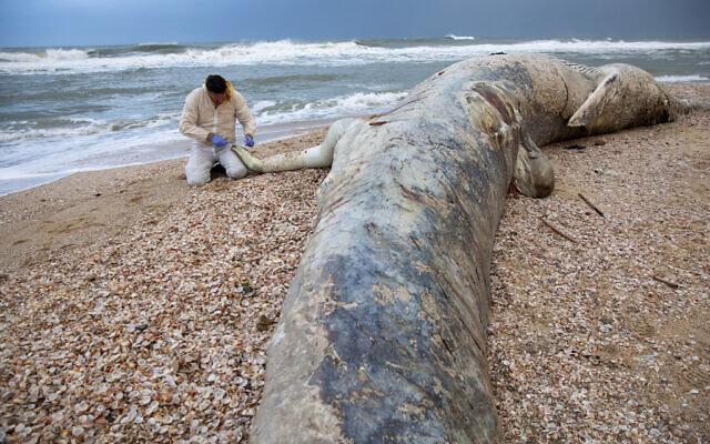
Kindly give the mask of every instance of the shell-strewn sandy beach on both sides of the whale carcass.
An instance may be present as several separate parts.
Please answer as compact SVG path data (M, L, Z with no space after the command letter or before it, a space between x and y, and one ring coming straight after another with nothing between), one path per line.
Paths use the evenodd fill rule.
M511 186L496 236L501 432L710 442L710 112L544 150L555 192ZM185 161L0 198L0 443L248 441L327 170L191 188Z

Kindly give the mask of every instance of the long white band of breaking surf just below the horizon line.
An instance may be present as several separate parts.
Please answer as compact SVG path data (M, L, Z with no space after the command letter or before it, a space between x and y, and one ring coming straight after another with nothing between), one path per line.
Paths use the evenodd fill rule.
M378 62L456 61L490 52L544 53L653 53L660 51L703 51L710 41L665 42L621 40L529 40L491 42L484 40L462 44L462 40L443 44L446 39L396 41L397 44L368 46L366 41L294 42L291 40L223 46L144 46L103 49L48 49L40 52L0 52L0 72L52 73L102 72L141 68L229 67L253 64L355 65ZM449 40L450 41L450 40ZM466 42L466 40L464 40ZM142 49L141 49L142 48Z

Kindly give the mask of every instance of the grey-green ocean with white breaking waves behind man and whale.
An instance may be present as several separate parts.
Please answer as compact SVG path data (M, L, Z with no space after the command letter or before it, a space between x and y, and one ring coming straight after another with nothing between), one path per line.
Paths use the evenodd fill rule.
M710 41L437 39L0 49L0 195L83 170L185 155L185 95L211 73L256 118L256 141L383 111L432 73L490 52L625 62L710 83Z

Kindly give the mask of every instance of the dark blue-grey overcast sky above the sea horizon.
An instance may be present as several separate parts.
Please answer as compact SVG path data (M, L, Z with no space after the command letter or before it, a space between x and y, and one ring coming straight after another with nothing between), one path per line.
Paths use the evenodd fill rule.
M0 0L0 47L444 37L710 38L710 0Z

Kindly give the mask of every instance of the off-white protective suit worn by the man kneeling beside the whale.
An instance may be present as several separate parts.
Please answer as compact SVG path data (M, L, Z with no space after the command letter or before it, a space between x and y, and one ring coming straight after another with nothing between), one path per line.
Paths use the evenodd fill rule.
M214 162L220 162L226 175L240 179L246 175L246 167L230 149L236 141L235 122L244 128L244 134L254 135L256 122L246 107L246 100L226 82L226 99L214 105L207 88L202 85L193 90L185 99L185 107L180 120L180 132L194 139L192 153L185 167L187 183L197 185L210 181L210 170ZM207 134L219 134L230 143L216 148L207 141Z

